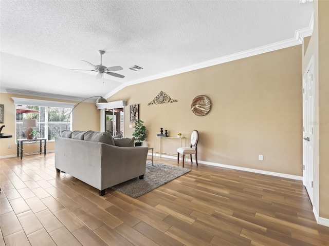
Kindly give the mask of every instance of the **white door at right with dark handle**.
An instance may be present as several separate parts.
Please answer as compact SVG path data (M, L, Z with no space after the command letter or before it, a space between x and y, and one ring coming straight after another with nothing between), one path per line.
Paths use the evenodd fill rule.
M313 203L314 59L303 76L303 183Z

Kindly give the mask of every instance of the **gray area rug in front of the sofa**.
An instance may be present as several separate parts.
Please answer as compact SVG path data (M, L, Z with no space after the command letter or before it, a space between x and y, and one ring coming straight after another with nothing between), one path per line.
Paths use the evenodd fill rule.
M143 179L133 178L111 188L137 198L190 171L187 168L178 168L156 162L152 166L152 162L147 162Z

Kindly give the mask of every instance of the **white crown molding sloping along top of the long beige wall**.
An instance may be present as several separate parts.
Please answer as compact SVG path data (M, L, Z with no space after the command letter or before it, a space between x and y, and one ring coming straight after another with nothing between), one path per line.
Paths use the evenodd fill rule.
M310 20L309 27L297 30L295 32L294 38L290 38L290 39L284 40L282 42L277 42L277 43L273 43L270 45L265 45L265 46L261 46L258 48L234 53L231 55L226 55L226 56L222 56L219 58L206 60L206 61L203 61L202 63L193 64L191 66L186 66L183 68L171 70L171 71L168 71L165 73L159 73L159 74L155 74L155 75L152 75L149 77L136 79L136 80L130 81L129 83L122 84L121 86L115 88L113 91L107 93L104 96L104 98L108 98L108 97L114 95L115 93L117 93L118 91L122 90L123 88L125 88L127 86L136 85L136 84L144 83L144 82L159 79L159 78L165 78L165 77L177 75L180 73L186 73L186 72L194 71L197 69L207 68L207 67L211 67L211 66L215 66L215 65L219 65L219 64L223 64L223 63L228 63L229 61L243 59L243 58L247 58L247 57L254 56L254 55L260 55L260 54L264 54L264 53L271 52L271 51L281 50L281 49L293 47L296 45L301 45L303 43L303 39L305 37L311 36L312 33L313 33L313 15Z

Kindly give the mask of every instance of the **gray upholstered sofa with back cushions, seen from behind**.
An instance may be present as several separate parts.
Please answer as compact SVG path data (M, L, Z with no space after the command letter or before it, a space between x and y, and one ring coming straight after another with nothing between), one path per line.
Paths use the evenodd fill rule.
M64 131L55 139L55 167L105 194L105 189L145 174L147 147L107 132Z

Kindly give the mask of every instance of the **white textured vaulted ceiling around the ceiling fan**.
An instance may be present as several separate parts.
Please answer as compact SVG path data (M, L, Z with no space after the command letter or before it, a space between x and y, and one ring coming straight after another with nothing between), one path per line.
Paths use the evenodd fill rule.
M313 3L281 1L1 0L2 92L108 97L127 85L301 44ZM87 60L121 66L125 78ZM133 71L137 65L143 69Z

